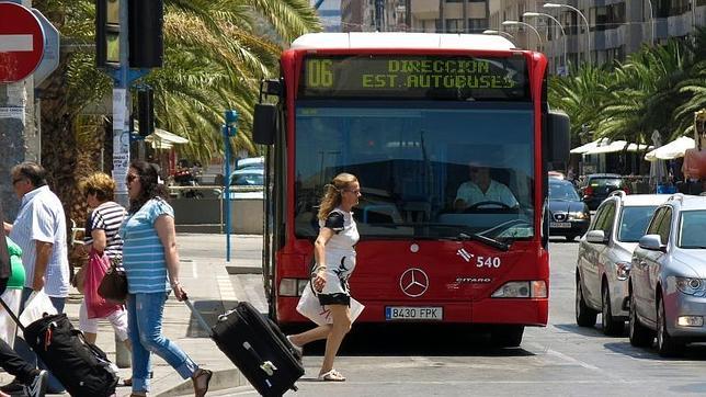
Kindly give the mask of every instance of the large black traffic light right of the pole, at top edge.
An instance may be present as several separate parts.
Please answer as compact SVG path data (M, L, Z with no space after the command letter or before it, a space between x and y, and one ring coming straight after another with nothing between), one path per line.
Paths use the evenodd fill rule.
M163 0L129 0L127 10L130 68L161 67L164 54Z

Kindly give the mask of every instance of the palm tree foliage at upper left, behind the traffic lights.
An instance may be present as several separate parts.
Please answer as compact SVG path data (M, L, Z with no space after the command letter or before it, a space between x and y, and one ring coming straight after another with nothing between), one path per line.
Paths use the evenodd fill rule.
M92 0L35 0L73 50L60 73L66 79L71 117L110 95L111 79L95 68ZM272 25L277 37L259 26ZM166 0L164 66L140 84L155 89L157 126L191 140L184 157L207 162L224 150L220 125L225 110L240 113L234 149L255 152L250 138L259 82L276 73L282 46L321 29L307 0Z

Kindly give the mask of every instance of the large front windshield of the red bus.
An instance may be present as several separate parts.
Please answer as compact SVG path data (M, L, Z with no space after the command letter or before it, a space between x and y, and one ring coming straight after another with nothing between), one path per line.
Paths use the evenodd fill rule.
M534 236L531 103L299 101L298 237L318 234L323 186L355 174L363 239Z

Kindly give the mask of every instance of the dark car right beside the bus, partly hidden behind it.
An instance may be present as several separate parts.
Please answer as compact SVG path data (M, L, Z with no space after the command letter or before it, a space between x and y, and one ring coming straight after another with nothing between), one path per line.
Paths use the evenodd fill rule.
M581 201L573 184L549 179L549 236L563 236L573 241L589 228L591 212Z

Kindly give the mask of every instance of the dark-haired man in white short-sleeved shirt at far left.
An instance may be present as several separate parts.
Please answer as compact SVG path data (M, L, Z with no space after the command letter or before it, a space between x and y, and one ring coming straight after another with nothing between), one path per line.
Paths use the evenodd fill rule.
M20 213L13 224L3 222L4 231L22 248L22 264L25 270L21 308L24 308L33 291L49 296L58 313L64 313L69 295L69 261L66 236L66 216L59 197L47 186L46 170L32 161L12 168L12 188L22 201ZM15 350L30 363L36 355L26 343L15 341ZM1 392L13 392L16 384L0 387ZM64 387L54 377L49 378L49 392L61 393Z

